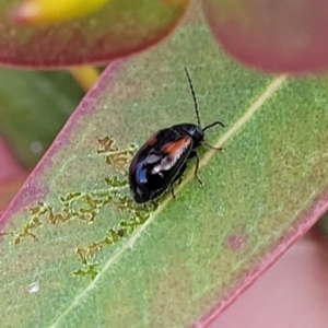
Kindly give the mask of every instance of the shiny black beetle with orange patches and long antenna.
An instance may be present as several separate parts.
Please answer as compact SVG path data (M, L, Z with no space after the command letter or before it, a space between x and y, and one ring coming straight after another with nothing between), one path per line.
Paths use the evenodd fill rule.
M171 188L173 198L175 194L173 185L177 181L187 167L187 161L195 157L195 177L203 185L198 176L199 156L196 149L204 144L215 150L204 141L204 132L214 126L224 125L214 121L204 128L201 127L196 94L187 68L185 72L189 82L191 96L198 125L179 124L154 133L132 157L129 167L130 191L136 202L143 203L161 196Z

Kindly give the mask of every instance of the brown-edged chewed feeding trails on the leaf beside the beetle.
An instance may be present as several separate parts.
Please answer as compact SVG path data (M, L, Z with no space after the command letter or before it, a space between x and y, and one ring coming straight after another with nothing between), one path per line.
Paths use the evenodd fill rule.
M109 226L106 235L85 247L78 247L78 255L83 269L73 272L74 277L90 277L94 279L97 273L98 262L93 262L96 254L105 246L113 246L121 238L131 235L136 227L143 224L150 213L157 208L156 202L150 204L137 204L127 192L128 165L131 156L136 153L137 147L130 144L128 149L119 150L115 145L115 140L109 137L98 139L97 154L105 154L105 163L110 165L117 174L105 177L105 189L84 192L75 190L65 196L59 196L59 209L48 204L46 201L38 201L30 209L31 220L17 232L1 232L0 236L10 236L13 243L20 244L23 238L37 239L37 229L45 224L57 225L71 220L80 220L87 224L95 222L101 209L110 204L119 212L126 212L128 218L121 220L116 226Z

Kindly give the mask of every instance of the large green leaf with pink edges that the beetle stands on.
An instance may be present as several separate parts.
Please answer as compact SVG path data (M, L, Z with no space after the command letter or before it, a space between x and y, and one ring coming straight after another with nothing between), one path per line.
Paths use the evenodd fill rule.
M207 132L225 151L200 149L204 187L190 161L176 201L137 207L130 144L196 121L184 66L202 124L226 126ZM227 59L195 7L161 46L105 71L2 216L1 325L207 323L326 210L327 106L326 78Z

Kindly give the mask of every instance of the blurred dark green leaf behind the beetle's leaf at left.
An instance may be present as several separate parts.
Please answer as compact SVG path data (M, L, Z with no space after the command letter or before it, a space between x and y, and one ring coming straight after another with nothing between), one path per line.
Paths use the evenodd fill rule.
M0 134L26 168L38 162L83 96L67 72L0 69Z

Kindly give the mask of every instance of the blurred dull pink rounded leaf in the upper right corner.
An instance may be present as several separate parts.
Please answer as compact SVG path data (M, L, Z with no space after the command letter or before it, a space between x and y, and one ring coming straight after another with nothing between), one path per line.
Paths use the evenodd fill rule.
M274 72L327 70L327 1L202 2L218 42L238 60Z

